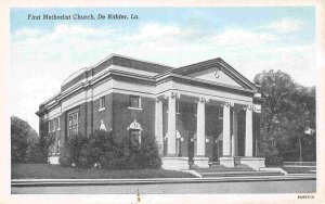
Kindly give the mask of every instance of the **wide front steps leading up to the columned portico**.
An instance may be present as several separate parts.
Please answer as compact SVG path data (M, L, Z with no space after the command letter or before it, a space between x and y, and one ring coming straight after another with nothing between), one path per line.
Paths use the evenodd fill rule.
M255 177L255 176L282 176L280 171L255 170L247 165L236 165L235 167L225 167L219 164L211 164L209 168L192 167L202 175L203 178L211 177Z

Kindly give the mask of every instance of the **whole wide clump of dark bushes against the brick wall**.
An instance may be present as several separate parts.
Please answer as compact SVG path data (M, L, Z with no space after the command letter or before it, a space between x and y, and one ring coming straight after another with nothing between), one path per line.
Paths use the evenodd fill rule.
M90 168L95 163L105 169L160 168L161 160L154 137L142 137L141 144L134 144L129 137L120 142L112 132L96 130L84 138L74 136L66 142L60 157L62 165L73 163L81 168Z

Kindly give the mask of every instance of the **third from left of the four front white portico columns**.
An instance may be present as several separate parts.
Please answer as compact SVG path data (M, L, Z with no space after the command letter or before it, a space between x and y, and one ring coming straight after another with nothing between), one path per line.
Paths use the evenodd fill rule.
M223 156L231 156L231 115L230 104L223 105Z

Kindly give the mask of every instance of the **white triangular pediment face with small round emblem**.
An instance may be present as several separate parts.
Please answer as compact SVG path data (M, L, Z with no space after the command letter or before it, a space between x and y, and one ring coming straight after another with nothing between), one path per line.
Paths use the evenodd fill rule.
M195 73L187 74L186 76L197 78L197 79L203 79L203 80L209 80L212 82L220 82L230 86L243 87L218 67L197 71Z

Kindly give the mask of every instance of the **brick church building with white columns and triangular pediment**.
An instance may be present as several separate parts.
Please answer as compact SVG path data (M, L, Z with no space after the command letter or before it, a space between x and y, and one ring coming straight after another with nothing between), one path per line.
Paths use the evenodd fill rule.
M49 162L73 133L102 129L116 137L156 138L162 168L245 164L258 156L260 87L222 59L171 67L112 54L70 75L61 91L40 104L40 133L54 138Z

